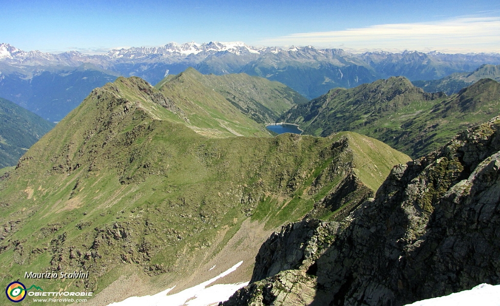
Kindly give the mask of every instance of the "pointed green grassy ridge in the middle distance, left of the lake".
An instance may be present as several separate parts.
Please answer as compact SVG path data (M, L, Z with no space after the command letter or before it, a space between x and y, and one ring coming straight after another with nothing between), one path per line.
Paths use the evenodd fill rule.
M226 130L232 136L269 135L264 123L306 101L277 82L245 74L202 75L193 68L166 77L155 88L182 110L185 120L208 134Z

